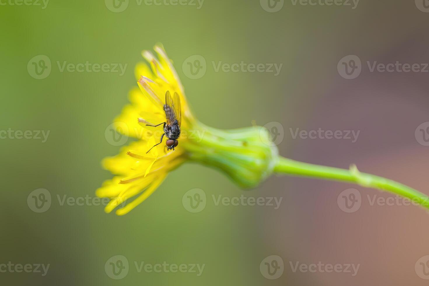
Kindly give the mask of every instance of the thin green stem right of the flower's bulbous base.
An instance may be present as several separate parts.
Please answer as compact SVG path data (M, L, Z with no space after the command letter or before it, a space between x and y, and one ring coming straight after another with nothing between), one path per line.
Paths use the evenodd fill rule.
M346 170L303 163L279 156L274 167L274 172L290 176L304 176L323 180L354 183L366 188L392 192L429 208L427 195L393 180L367 173L361 173L357 170L356 165L351 165L350 169Z

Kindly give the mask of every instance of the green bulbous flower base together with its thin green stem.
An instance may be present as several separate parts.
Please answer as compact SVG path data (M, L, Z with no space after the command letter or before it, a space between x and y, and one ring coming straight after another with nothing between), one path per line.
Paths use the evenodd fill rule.
M188 158L224 171L245 189L254 188L272 173L278 173L347 182L388 191L429 209L427 195L393 180L361 173L355 165L346 170L283 158L278 155L269 132L263 127L220 130L193 122L193 130L199 131L198 134L202 136L189 137L184 144Z

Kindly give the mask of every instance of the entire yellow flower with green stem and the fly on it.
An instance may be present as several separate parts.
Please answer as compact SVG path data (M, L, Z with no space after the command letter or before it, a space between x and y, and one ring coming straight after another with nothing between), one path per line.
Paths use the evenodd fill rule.
M103 167L115 174L96 191L97 196L110 198L106 213L120 204L124 206L116 210L116 214L129 213L155 192L169 172L187 161L221 170L243 188L254 188L272 173L282 173L390 191L416 200L429 209L426 195L392 180L360 173L354 165L350 170L344 170L283 158L278 155L277 146L271 142L266 128L220 130L202 124L191 113L184 88L165 50L155 46L155 52L157 57L149 51L142 52L149 65L137 64L135 76L139 88L130 91L131 104L125 106L115 119L127 127L123 135L138 140L124 146L118 155L103 160ZM164 122L153 124L161 121ZM157 143L147 126L153 129L160 125L163 125L164 133ZM191 130L201 135L188 135ZM181 148L166 152L178 146L181 132ZM149 136L143 136L146 134ZM167 147L157 146L164 136L168 138ZM146 152L150 147L150 152Z

